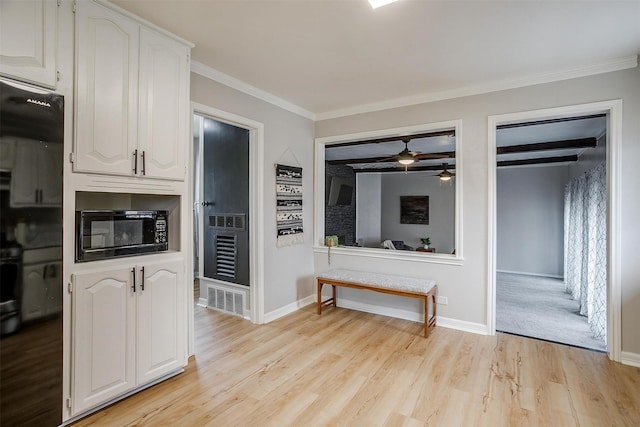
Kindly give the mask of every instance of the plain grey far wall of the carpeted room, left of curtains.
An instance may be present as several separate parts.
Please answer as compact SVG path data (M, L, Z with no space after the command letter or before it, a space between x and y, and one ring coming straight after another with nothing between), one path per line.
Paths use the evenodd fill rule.
M568 179L568 165L498 168L499 271L563 277Z

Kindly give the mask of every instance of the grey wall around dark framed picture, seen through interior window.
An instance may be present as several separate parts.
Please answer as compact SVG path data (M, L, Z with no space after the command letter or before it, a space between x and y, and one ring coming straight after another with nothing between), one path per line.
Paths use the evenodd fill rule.
M437 171L436 171L437 172ZM455 242L455 186L436 172L385 173L382 177L382 238L422 246L429 237L437 252L450 254ZM451 185L450 185L451 183ZM429 196L429 225L400 224L400 196Z

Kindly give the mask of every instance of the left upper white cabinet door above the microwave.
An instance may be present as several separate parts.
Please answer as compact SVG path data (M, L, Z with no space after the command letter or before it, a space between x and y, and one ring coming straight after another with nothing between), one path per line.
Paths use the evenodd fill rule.
M74 170L132 175L139 25L93 1L77 8Z

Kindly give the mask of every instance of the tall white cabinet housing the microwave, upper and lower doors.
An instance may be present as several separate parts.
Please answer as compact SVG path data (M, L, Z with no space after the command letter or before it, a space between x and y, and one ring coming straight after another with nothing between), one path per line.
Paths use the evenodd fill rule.
M71 417L186 364L192 47L103 0L75 22L74 209L168 210L169 251L73 264Z

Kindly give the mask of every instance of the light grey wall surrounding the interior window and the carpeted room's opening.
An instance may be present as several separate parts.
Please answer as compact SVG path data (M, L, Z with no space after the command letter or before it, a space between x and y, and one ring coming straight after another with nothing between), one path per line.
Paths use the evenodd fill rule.
M462 120L464 130L459 136L464 159L464 263L447 265L415 259L383 259L374 255L353 256L336 251L331 255L331 267L397 274L410 272L413 276L431 277L438 282L439 294L447 296L449 301L447 306L439 308L439 315L465 324L486 325L489 242L488 116L613 99L623 101L623 140L620 147L622 350L640 354L640 333L636 327L640 324L640 263L637 262L636 250L637 242L640 241L640 221L637 219L640 211L640 192L637 190L640 168L636 165L640 159L640 70L637 67L316 122L317 138L457 119ZM326 252L318 249L315 253L316 271L324 271L328 267ZM372 293L345 292L343 295L361 301L373 298L381 306L402 306L408 311L419 310L409 301L364 294Z

